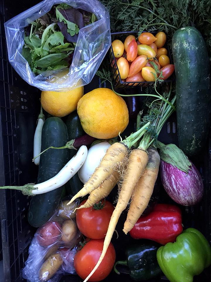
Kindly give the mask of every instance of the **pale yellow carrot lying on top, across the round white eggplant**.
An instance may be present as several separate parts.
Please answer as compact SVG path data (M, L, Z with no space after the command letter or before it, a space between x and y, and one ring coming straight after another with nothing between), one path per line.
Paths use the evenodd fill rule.
M127 156L128 149L123 143L114 143L106 151L99 166L95 169L92 176L84 184L84 187L70 200L71 204L76 198L84 197L99 187L114 170L122 166L122 162Z

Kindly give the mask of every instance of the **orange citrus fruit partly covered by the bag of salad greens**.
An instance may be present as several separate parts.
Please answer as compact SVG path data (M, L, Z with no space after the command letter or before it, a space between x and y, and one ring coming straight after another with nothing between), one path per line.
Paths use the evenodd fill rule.
M50 115L55 117L64 117L76 110L78 101L83 94L83 86L75 89L70 88L62 92L42 91L42 108Z

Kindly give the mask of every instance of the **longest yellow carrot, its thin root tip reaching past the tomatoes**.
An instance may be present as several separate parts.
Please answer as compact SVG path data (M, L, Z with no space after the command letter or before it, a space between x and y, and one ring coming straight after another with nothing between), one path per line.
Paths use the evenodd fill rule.
M133 189L137 184L139 178L141 177L147 162L148 162L148 155L145 151L140 149L132 150L129 156L129 162L125 172L124 181L120 189L119 199L109 222L108 231L106 233L106 237L103 244L103 251L101 253L101 256L96 266L93 268L89 276L86 277L84 282L89 280L89 278L93 275L93 273L96 271L98 266L101 264L106 254L106 251L108 249L108 246L110 244L118 219L121 213L124 211L124 209L126 209L127 204L132 195Z

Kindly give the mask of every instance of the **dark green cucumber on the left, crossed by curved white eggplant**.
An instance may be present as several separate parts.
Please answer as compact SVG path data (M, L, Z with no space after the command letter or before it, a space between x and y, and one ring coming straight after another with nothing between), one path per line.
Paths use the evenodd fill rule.
M49 117L42 127L41 152L47 147L62 147L68 141L67 126L59 117ZM69 160L69 149L47 150L40 156L38 183L54 177ZM57 208L64 186L51 192L33 196L28 211L28 221L40 227L48 221Z

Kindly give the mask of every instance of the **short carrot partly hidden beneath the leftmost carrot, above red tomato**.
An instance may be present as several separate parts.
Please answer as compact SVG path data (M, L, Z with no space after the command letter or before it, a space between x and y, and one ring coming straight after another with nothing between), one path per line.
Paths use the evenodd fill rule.
M86 202L79 208L76 208L76 210L92 207L94 204L107 197L113 187L117 184L119 178L120 173L117 170L114 170L113 174L111 174L108 179L101 184L101 186L92 191Z

